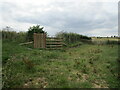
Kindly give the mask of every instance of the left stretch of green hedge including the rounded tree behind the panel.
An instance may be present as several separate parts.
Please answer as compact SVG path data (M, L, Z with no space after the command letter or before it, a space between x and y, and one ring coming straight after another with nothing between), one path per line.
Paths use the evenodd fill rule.
M26 42L26 41L33 41L33 33L46 33L40 25L32 26L28 29L27 32L16 32L10 31L10 27L6 27L4 30L0 31L2 33L2 39L10 40L14 42Z

